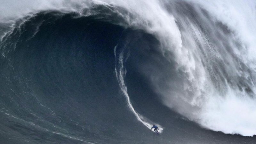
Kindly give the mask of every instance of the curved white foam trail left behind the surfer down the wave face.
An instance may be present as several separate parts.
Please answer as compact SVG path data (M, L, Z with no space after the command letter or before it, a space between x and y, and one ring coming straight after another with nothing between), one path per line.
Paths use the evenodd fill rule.
M118 54L119 56L117 58L116 48L117 48L117 45L115 46L114 52L115 52L115 58L116 58L116 68L115 68L116 78L118 80L119 86L120 86L120 88L121 88L121 90L122 90L122 92L123 92L123 94L126 98L128 107L130 108L132 113L136 116L137 120L140 121L142 124L144 124L145 126L147 126L150 129L152 127L152 125L155 124L155 123L151 122L150 120L148 120L144 116L137 113L135 111L135 109L133 108L133 106L132 106L132 103L130 101L130 97L129 97L128 92L127 92L127 87L126 87L125 82L124 82L124 77L125 77L125 74L126 74L126 69L124 68L124 50L122 50ZM118 71L117 71L117 68L118 68ZM162 132L164 130L164 128L159 124L157 124L157 125L158 125L158 128L159 128L159 132Z

